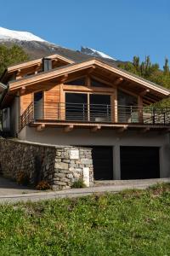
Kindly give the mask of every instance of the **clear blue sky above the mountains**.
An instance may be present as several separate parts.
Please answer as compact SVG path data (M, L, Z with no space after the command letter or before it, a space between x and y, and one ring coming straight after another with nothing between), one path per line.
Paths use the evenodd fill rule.
M122 61L150 55L162 67L170 59L169 0L8 0L1 3L0 26Z

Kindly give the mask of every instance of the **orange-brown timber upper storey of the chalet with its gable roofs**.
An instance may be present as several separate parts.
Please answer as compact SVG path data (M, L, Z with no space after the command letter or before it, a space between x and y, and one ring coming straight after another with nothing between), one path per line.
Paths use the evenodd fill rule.
M167 113L158 115L156 112L154 116L153 113L146 113L146 107L169 96L169 90L102 61L74 63L59 55L53 55L51 61L52 69L48 72L40 72L42 60L37 60L8 68L4 73L3 81L9 79L12 74L15 74L15 80L8 81L10 96L9 93L6 94L3 106L10 106L13 97L19 96L19 115L25 125L26 119L30 125L43 124L43 127L50 124L65 125L66 122L68 131L74 125L85 125L82 123L94 123L94 131L99 130L101 125L111 126L119 123L122 129L126 129L128 123L147 127L155 125L157 119L164 120L163 125L167 125ZM125 102L119 107L122 105L122 102L119 102L120 92L133 97L135 104L130 106L129 102ZM69 94L73 96L72 102L66 100ZM83 96L84 102L74 102L76 94ZM103 101L102 97L106 100ZM31 119L28 118L30 111ZM122 120L120 116L125 114L129 117ZM152 123L144 124L144 114L151 118Z

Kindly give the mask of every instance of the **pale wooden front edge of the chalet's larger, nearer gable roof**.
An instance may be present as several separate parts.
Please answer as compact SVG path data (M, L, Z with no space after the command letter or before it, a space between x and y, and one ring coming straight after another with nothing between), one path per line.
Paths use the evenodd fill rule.
M122 77L124 79L128 79L129 81L133 81L137 84L141 84L146 89L155 90L162 94L162 96L170 96L170 90L162 87L161 85L154 84L146 79L142 79L137 75L133 75L132 73L128 73L127 71L122 70L114 65L109 65L105 61L99 61L95 58L90 58L88 61L77 62L73 64L66 65L64 67L54 68L52 70L48 70L47 72L38 73L36 75L29 76L27 78L14 80L9 83L9 87L11 90L16 88L20 88L21 86L28 86L30 84L35 84L37 82L41 82L43 80L53 79L60 76L65 75L65 73L74 73L83 69L87 69L90 67L99 67L107 70L108 72L116 74L118 77Z

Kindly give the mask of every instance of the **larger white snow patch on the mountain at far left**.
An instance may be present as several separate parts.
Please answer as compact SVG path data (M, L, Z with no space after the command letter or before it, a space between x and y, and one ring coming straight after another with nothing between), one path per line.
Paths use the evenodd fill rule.
M0 27L0 40L12 40L17 39L20 41L39 41L39 42L46 42L42 38L38 38L31 32L20 32L14 31L7 28Z

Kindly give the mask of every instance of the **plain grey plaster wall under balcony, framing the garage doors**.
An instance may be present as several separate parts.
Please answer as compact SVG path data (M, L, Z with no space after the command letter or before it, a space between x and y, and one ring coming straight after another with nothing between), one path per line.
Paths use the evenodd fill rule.
M120 179L120 146L160 147L161 177L170 177L170 141L169 135L158 131L124 131L101 130L92 132L88 129L74 129L64 132L59 128L36 128L26 126L20 132L20 139L36 143L51 143L55 145L100 145L113 147L113 177Z

